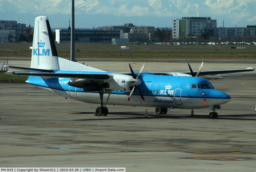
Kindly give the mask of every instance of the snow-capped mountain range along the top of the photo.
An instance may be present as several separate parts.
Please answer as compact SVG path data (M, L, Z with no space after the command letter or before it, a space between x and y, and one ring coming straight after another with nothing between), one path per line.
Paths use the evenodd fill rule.
M254 24L255 8L256 0L75 0L76 14L102 14L112 19L144 17L148 18L146 20L161 18L159 21L163 21L162 18L166 17L170 20L211 16L212 19L224 19L234 24ZM0 0L0 16L6 13L70 15L71 0Z

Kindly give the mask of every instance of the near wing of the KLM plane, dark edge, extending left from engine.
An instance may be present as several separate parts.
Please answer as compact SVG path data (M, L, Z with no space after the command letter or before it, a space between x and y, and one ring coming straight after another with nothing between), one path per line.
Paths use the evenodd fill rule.
M92 79L92 80L105 80L109 79L109 75L104 73L48 73L48 72L5 72L8 75L24 75L24 76L37 76L37 77L55 77L55 78L79 78L79 79Z

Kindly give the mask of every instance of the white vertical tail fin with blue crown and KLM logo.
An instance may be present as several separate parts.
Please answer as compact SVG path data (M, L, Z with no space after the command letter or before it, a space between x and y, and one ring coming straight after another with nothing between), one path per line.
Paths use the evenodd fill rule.
M58 57L49 20L46 16L35 18L31 68L102 72L102 70Z

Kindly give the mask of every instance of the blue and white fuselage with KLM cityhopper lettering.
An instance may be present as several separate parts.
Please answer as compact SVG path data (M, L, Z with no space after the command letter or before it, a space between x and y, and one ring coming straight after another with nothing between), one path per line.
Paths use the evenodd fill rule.
M108 104L199 109L224 104L231 99L228 94L214 89L209 81L198 77L154 75L145 72L141 73L140 80L142 81L140 89L145 101L135 89L132 99L128 102L129 92L116 87L109 97ZM29 77L27 82L65 98L94 104L101 103L98 91L84 91L72 87L68 85L69 81L69 78L42 79L34 76ZM108 95L109 92L104 92L103 103L106 102Z

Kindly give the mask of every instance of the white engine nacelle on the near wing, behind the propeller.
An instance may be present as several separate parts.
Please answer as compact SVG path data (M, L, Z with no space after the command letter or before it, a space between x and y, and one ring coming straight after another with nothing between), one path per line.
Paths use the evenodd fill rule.
M131 92L134 85L141 84L141 80L132 76L123 74L109 74L110 78L105 80L101 87L109 90L121 90L123 92ZM131 87L131 88L130 88Z

